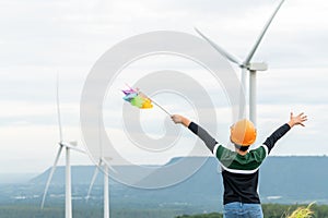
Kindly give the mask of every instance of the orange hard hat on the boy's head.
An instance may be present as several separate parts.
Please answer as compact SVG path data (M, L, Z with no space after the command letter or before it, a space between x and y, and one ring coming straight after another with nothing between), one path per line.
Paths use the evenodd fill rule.
M230 129L230 138L234 144L249 146L256 140L256 129L249 120L239 120Z

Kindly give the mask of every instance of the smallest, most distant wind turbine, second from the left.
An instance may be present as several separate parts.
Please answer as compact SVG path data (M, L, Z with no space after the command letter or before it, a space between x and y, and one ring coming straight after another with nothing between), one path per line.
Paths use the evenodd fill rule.
M90 198L90 193L91 190L94 185L94 182L98 175L98 169L103 167L103 173L104 173L104 218L109 218L109 175L108 175L108 170L110 168L110 170L113 170L114 172L116 172L115 169L112 168L109 161L112 160L110 157L104 157L103 156L103 145L102 145L102 132L101 132L101 116L98 117L98 137L99 137L99 161L98 165L95 168L95 171L93 173L90 186L89 186L89 191L87 191L87 195L86 195L86 201Z

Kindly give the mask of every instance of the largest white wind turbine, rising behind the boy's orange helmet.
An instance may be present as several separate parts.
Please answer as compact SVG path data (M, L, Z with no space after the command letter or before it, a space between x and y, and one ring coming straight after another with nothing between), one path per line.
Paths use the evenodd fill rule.
M268 70L268 64L265 62L250 62L251 58L254 57L259 44L261 43L266 32L268 31L273 17L276 16L277 12L281 8L284 0L281 0L273 11L272 15L266 23L261 34L258 36L255 45L250 49L249 53L247 55L246 59L242 61L241 59L236 58L235 56L229 53L223 48L218 46L214 41L212 41L210 38L204 36L199 29L195 27L195 31L203 38L206 39L214 49L216 49L222 56L224 56L227 60L231 62L237 64L242 69L242 88L241 88L241 98L243 95L243 89L245 89L245 77L247 71L249 72L249 119L253 121L253 123L256 125L256 72L257 71L266 71ZM243 108L239 105L239 118L243 117Z

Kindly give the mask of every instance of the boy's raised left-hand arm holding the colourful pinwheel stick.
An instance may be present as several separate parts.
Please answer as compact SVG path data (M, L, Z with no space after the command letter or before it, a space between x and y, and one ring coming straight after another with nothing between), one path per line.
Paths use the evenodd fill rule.
M181 123L183 125L188 128L192 133L198 135L198 137L200 137L200 140L204 142L206 146L213 153L214 147L216 145L216 141L204 129L202 129L201 126L199 126L195 122L191 122L183 116L174 114L171 118L176 124Z

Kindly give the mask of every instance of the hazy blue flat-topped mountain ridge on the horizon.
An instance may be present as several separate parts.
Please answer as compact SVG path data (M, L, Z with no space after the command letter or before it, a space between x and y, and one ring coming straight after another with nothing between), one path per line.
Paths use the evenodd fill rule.
M202 158L202 157L187 157L187 158ZM167 165L179 161L181 158L174 158ZM196 171L191 177L185 181L159 190L154 193L160 195L172 195L175 198L181 198L179 195L194 197L222 197L222 178L220 174L219 162L214 157L204 157L207 159L203 166ZM323 166L328 166L328 157L326 156L306 156L306 157L268 157L262 164L259 172L259 192L265 202L286 203L291 201L317 201L328 203L328 170L321 170ZM126 167L129 171L133 171L133 166ZM72 167L72 184L73 185L89 185L95 167L93 166L73 166ZM120 170L116 166L117 170ZM30 181L33 184L45 184L48 178L46 170L42 174L35 177ZM127 170L127 169L125 169ZM137 169L136 169L137 170ZM137 172L136 172L137 173ZM178 173L178 172L177 172ZM112 191L115 189L126 191L128 193L149 194L151 191L131 187L121 184L112 178L109 179L113 185ZM51 185L63 185L65 182L65 167L59 167L55 174ZM98 174L95 185L103 184L103 177ZM50 186L51 186L50 185ZM192 194L190 194L192 190ZM134 193L134 194L136 194ZM188 193L188 194L187 194ZM134 195L133 194L133 195ZM184 197L183 197L184 198Z

